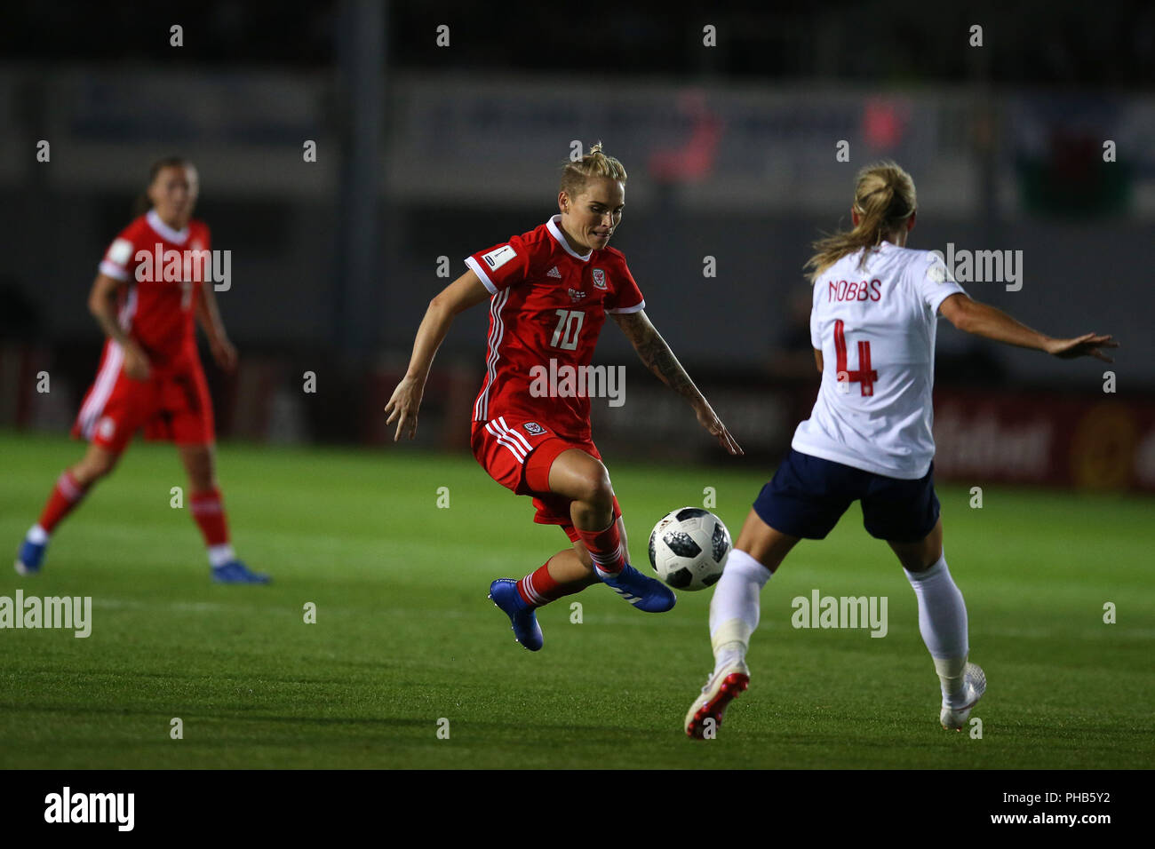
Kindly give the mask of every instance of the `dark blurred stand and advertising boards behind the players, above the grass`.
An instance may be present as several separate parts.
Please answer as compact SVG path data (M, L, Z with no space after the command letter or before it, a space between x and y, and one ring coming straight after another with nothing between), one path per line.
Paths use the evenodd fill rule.
M973 297L1124 345L1113 366L1060 362L941 322L939 477L1155 490L1147 3L102 6L0 13L0 425L70 424L102 343L97 262L149 163L179 152L200 170L198 217L232 252L218 299L239 371L203 351L221 438L385 445L429 299L463 256L556 211L561 164L601 140L629 172L613 245L754 462L776 462L817 390L810 241L849 226L855 172L888 157L918 188L912 247L1021 252L1021 289L964 282ZM437 358L427 447L468 449L486 318L462 315ZM595 363L628 368L625 404L594 404L611 468L735 462L612 322Z

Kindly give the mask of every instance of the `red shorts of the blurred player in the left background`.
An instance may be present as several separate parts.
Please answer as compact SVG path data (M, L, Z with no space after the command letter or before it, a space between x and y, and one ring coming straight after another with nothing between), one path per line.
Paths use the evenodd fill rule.
M96 381L84 395L73 437L120 453L141 427L146 439L178 445L213 441L213 402L200 362L176 371L152 370L148 380L124 373L119 344L104 348Z

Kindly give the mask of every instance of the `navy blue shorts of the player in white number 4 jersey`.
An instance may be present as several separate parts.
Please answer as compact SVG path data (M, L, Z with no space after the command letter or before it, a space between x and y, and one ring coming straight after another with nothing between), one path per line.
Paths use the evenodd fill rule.
M934 463L917 481L903 481L791 448L754 499L754 511L783 534L825 539L852 501L862 501L863 526L872 537L896 543L923 539L939 517Z

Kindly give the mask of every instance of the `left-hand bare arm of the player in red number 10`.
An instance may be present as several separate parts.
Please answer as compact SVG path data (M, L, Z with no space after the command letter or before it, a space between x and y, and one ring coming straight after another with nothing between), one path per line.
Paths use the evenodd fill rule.
M397 431L393 434L396 442L402 433L409 439L417 434L417 410L422 405L422 395L425 393L425 379L429 378L430 366L433 365L433 357L437 349L445 341L445 335L449 332L449 325L454 316L462 310L480 304L490 297L489 290L472 271L465 271L453 283L442 289L430 301L425 318L422 319L420 327L417 328L417 338L413 341L413 353L409 359L409 370L397 388L393 390L389 403L385 405L385 411L389 414L386 424L393 424L397 419Z

